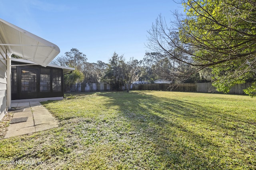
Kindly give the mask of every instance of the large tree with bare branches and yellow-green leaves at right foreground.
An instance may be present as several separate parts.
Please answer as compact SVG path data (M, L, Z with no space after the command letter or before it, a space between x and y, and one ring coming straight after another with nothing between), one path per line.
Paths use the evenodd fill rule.
M226 93L234 84L255 77L256 1L182 2L186 16L176 13L176 21L172 21L170 27L159 17L149 31L150 49L187 65L187 70L177 72L176 76L186 77L210 68L214 86ZM175 30L180 43L172 34ZM186 57L175 56L174 47ZM245 92L250 94L250 90Z

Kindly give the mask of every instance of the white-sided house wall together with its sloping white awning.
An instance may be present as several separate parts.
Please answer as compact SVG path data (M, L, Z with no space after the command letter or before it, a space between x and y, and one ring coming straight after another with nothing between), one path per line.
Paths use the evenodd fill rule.
M47 66L58 53L57 45L0 19L0 120L11 107L11 55Z

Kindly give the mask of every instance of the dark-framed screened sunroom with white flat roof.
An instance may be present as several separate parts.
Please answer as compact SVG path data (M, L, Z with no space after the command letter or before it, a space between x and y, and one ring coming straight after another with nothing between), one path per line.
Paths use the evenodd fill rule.
M12 58L12 100L32 98L62 99L63 75L74 68L48 64L40 66L24 59Z

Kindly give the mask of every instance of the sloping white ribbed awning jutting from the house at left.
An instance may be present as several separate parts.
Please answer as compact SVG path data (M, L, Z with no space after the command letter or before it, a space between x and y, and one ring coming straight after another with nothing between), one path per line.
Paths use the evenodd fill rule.
M2 19L0 34L3 41L0 45L6 46L11 53L41 66L47 66L60 53L57 45Z

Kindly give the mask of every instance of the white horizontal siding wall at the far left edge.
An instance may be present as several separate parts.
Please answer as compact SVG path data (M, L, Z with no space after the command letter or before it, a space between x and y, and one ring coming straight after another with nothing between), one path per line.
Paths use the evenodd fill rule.
M0 39L0 43L2 43ZM7 62L6 48L0 46L0 120L7 113Z

